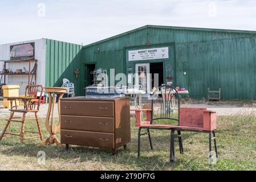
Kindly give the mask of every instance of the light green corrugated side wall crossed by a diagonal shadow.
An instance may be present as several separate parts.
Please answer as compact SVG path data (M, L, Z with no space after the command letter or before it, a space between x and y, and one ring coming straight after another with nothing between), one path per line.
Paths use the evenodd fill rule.
M62 86L63 78L75 84L75 93L82 95L80 80L83 74L75 78L75 69L81 72L82 46L46 39L46 86Z

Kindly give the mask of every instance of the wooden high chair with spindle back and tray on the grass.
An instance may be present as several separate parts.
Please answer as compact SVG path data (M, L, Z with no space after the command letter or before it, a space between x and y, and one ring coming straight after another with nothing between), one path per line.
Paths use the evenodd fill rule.
M38 93L40 93L40 96L38 96ZM27 85L26 86L26 92L25 92L25 97L7 97L6 99L10 101L11 103L11 113L10 113L10 118L7 119L7 123L5 128L3 129L3 132L0 136L0 140L2 140L3 137L9 137L9 136L19 136L21 137L21 143L23 143L23 140L25 139L31 139L31 138L42 138L42 132L40 130L40 124L39 124L39 118L38 118L38 111L40 107L40 101L42 100L42 93L43 93L43 86L42 85ZM24 108L23 109L18 109L17 107L17 101L22 101L24 102ZM15 106L13 106L13 102L15 103ZM15 113L22 113L22 117L14 117ZM35 118L26 118L27 113L34 113ZM19 121L18 119L22 119ZM27 121L36 121L37 127L38 127L38 132L37 131L25 131L25 123ZM21 133L9 133L6 132L8 127L10 130L10 123L11 122L19 122L22 123L21 126ZM32 133L32 134L38 134L34 137L27 137L25 138L25 133Z

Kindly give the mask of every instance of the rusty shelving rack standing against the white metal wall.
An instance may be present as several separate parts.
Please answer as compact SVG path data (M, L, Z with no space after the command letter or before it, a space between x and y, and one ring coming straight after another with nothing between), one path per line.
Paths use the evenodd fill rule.
M23 60L5 60L3 61L3 71L0 73L1 81L3 77L3 84L6 84L6 76L19 76L19 75L27 75L29 77L28 84L36 84L36 71L37 71L37 60L36 59L23 59ZM31 63L35 63L34 67L31 69ZM29 63L28 73L6 73L6 64L10 63ZM32 82L34 79L34 82Z

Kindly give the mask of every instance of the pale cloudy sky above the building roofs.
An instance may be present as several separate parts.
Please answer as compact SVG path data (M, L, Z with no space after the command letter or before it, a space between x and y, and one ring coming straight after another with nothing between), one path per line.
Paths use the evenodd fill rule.
M0 0L0 44L50 38L87 45L146 24L256 30L256 1Z

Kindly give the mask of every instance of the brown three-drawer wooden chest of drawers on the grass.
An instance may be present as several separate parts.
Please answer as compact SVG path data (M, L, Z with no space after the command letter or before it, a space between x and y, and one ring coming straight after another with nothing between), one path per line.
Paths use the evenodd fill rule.
M116 149L131 142L129 97L63 98L60 101L61 143Z

